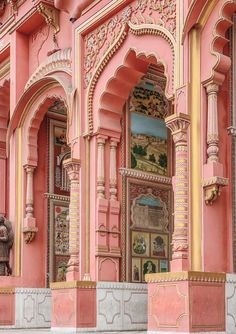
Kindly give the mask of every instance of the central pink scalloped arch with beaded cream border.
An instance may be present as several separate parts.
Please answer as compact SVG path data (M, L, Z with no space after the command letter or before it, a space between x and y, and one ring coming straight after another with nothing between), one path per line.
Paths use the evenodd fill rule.
M94 129L97 131L101 127L111 129L106 122L105 115L108 114L113 115L111 130L120 132L118 124L125 101L151 63L164 66L166 95L172 97L174 62L175 41L165 28L151 24L135 26L131 23L124 26L97 65L90 81L86 132L92 134Z

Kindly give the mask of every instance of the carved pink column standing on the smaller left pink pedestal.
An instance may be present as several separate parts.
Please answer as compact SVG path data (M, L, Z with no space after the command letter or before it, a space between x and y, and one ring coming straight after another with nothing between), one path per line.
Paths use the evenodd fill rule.
M69 253L70 260L67 267L67 281L80 279L79 249L80 249L80 160L67 159L64 167L70 179L69 206Z

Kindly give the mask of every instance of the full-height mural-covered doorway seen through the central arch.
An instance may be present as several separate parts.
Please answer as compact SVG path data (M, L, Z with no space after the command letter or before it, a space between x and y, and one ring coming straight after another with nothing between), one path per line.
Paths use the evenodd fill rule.
M150 64L131 91L124 113L122 224L126 280L136 283L145 282L145 274L169 271L171 258L172 140L164 121L171 114L171 102L165 88L163 65Z

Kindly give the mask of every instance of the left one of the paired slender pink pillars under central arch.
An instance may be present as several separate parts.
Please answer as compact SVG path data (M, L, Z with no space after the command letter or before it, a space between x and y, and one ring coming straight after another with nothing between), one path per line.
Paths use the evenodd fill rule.
M97 155L97 196L98 198L105 198L105 142L104 136L97 137L98 155Z

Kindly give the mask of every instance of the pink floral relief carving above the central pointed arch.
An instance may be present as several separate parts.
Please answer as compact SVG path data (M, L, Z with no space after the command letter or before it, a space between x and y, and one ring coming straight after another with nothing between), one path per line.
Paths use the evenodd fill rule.
M118 37L128 22L133 25L153 24L168 30L175 38L175 0L137 0L85 37L84 86L88 86L93 68Z

